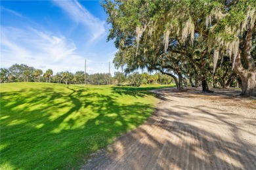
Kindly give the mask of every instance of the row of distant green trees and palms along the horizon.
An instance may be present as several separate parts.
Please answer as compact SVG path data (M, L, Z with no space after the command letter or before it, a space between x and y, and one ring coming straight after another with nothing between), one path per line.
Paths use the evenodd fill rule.
M25 64L14 64L9 68L0 69L0 82L53 82L59 84L129 84L131 86L139 86L140 84L171 84L173 78L171 76L156 73L150 75L148 73L131 73L125 75L121 72L115 72L114 76L109 73L95 73L85 75L84 71L76 71L71 73L68 71L53 74L52 69L48 69L43 73L41 69L35 69Z

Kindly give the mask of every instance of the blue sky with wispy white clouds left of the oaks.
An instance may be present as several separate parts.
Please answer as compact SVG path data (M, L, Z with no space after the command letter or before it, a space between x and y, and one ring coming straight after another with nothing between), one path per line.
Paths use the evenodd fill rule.
M117 52L100 1L1 1L1 67L107 73Z

